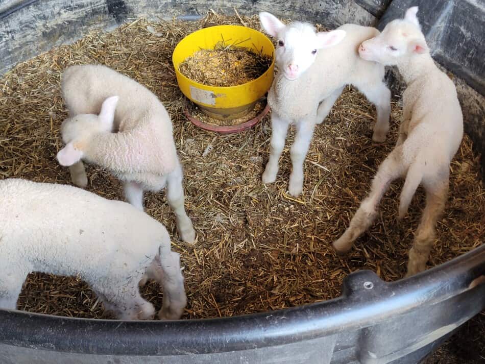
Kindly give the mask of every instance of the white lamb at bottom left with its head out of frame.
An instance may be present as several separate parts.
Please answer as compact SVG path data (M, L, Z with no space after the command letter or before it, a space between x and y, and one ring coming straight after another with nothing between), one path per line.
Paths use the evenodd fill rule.
M165 227L130 204L83 189L0 181L0 307L15 309L30 272L79 276L122 320L154 316L140 280L163 287L161 319L178 319L187 299L180 257ZM146 274L146 276L145 276Z

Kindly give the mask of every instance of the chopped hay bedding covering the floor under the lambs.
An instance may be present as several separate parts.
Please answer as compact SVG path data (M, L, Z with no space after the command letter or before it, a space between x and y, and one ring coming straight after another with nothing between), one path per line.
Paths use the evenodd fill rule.
M259 29L256 16L243 19ZM389 139L377 145L369 130L374 107L347 87L325 123L316 128L305 162L303 195L290 197L286 188L293 131L277 181L263 185L261 174L270 150L269 116L255 129L227 136L198 129L184 117L184 99L171 55L178 41L208 21L228 24L238 23L239 18L210 14L194 23L138 19L112 33L94 31L74 44L56 47L16 66L0 83L2 178L70 183L68 169L55 160L62 143L59 127L67 115L60 93L61 72L71 64L103 63L147 85L173 119L184 166L187 213L198 234L196 245L187 247L178 239L175 216L164 192L146 193L145 205L172 233L173 248L181 253L188 295L185 319L328 300L340 295L345 276L361 269L370 269L386 281L402 278L424 203L421 189L406 218L398 222L402 182L393 184L380 204L378 219L348 255L338 257L330 246L348 226L376 168L393 148L401 113L399 100L392 104ZM204 153L206 150L210 152ZM465 136L451 164L450 197L428 266L482 244L485 189L477 161L470 138ZM88 190L123 199L122 186L103 168L87 166L87 173ZM155 283L142 292L160 308L162 293ZM78 278L40 273L28 276L18 308L61 316L109 317Z

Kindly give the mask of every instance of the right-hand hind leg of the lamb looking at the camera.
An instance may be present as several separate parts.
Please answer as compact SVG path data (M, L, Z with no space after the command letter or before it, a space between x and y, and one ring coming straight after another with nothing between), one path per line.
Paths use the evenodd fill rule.
M372 140L378 143L385 141L389 131L389 117L391 116L391 91L383 82L359 87L367 99L376 106L377 122L374 125Z

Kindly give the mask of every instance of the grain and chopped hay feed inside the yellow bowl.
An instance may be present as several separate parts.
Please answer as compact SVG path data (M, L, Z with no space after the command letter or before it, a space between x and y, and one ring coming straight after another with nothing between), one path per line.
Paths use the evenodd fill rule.
M204 85L227 87L255 80L270 68L271 56L238 45L251 39L221 37L212 50L201 49L180 63L182 75Z

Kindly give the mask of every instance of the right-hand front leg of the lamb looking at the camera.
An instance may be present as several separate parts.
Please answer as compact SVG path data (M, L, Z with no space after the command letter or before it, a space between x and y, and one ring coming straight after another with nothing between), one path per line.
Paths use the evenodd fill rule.
M305 161L315 124L313 120L302 120L296 125L295 141L290 149L292 173L289 175L288 192L299 196L303 190L303 162Z

